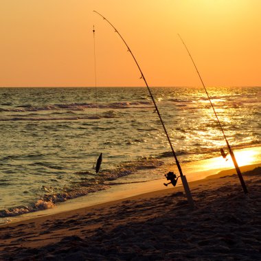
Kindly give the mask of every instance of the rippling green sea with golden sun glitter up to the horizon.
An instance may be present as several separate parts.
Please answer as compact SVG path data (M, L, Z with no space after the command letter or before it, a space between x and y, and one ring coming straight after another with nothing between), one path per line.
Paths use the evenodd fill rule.
M225 140L202 88L151 90L181 167L220 155ZM231 147L261 146L261 87L208 91ZM172 169L146 87L0 88L0 98L0 218Z

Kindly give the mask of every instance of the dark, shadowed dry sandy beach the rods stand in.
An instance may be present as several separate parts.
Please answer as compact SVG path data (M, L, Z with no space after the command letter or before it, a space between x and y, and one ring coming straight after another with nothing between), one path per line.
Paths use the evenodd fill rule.
M1 260L260 260L261 163L183 188L10 223L0 227Z

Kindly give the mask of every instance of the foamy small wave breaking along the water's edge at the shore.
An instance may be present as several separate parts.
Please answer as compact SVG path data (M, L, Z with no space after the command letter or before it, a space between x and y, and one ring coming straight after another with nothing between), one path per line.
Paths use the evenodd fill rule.
M105 170L102 175L93 174L91 172L76 172L75 175L80 177L80 179L78 179L78 181L71 182L70 186L66 186L66 188L63 188L63 192L55 192L56 188L43 185L42 191L45 193L43 194L43 196L41 196L41 198L36 200L35 203L0 210L0 218L19 216L21 214L49 209L54 207L56 203L65 202L68 199L78 198L80 196L86 196L87 194L93 192L107 190L112 185L123 184L115 180L120 177L134 174L135 172L137 172L137 170L152 170L159 168L162 165L163 161L159 161L159 159L155 158L150 158L122 163L114 170ZM138 183L146 181L148 181L148 178L144 178L144 180L141 179L139 181L127 181L124 183Z

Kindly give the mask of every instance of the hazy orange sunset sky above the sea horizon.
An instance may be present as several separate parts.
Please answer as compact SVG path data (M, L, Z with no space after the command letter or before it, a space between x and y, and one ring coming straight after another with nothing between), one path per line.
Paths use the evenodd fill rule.
M0 0L0 87L261 86L260 0Z

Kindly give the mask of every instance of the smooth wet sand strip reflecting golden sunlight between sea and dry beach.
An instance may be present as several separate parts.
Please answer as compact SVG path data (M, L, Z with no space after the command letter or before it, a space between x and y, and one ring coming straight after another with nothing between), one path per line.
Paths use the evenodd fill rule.
M242 172L245 171L245 166L241 166L242 162L251 162L251 165L254 165L253 163L256 163L257 165L261 163L261 146L242 148L240 150L234 150L234 152L236 157L240 157L241 159L241 161L239 162L239 166ZM248 155L250 155L251 157L247 157ZM242 160L242 156L246 159L251 159L251 161L246 159L244 159L245 161ZM185 176L187 177L188 183L190 185L190 183L194 181L202 181L208 176L214 177L214 175L224 170L226 171L231 169L231 171L233 171L234 164L231 161L230 157L227 161L225 161L222 157L214 157L209 159L203 159L200 161L183 163L182 169L183 174L185 174ZM177 166L171 166L170 171L178 173ZM163 186L164 182L166 182L165 178L153 181L146 181L142 183L126 183L122 185L111 185L111 188L107 190L94 192L77 198L71 198L68 201L56 204L52 208L38 210L36 212L29 212L26 214L21 214L19 216L8 216L0 218L0 227L5 224L16 223L22 220L69 212L71 210L80 209L82 207L91 207L102 203L108 203L110 201L121 200L131 196L137 196L139 194L155 192L157 190L170 189L170 186L168 186L168 188ZM177 183L176 188L178 188L179 186L181 186L180 179Z

